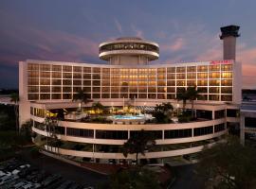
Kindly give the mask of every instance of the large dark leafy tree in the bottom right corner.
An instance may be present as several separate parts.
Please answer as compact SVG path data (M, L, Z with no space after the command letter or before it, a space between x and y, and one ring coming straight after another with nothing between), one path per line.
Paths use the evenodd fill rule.
M255 188L256 149L242 146L238 138L204 149L199 158L197 172L211 188Z

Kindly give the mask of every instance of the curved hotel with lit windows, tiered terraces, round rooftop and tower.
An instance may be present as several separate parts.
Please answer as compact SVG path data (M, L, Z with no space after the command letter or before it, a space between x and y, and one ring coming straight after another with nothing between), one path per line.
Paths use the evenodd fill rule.
M21 61L20 122L32 120L35 142L38 138L44 141L52 137L52 132L44 127L46 116L63 114L56 129L57 138L65 145L58 149L45 146L46 150L100 162L135 159L135 154L124 157L121 146L141 129L155 134L156 146L139 159L165 161L169 157L199 152L203 146L221 140L229 125L239 121L241 65L235 61L233 52L238 36L232 33L236 29L237 34L238 28L222 27L224 60L151 64L150 61L159 57L157 43L119 38L100 44L99 57L107 64ZM84 123L76 113L67 114L80 104L72 99L81 90L91 98L89 103L80 104L87 111L91 111L92 103L98 101L112 112L130 105L137 112L145 112L162 102L170 102L178 110L182 105L177 102L176 94L189 86L197 86L200 90L194 102L198 121L190 123L145 124L125 120L108 124ZM186 109L191 108L188 102Z

